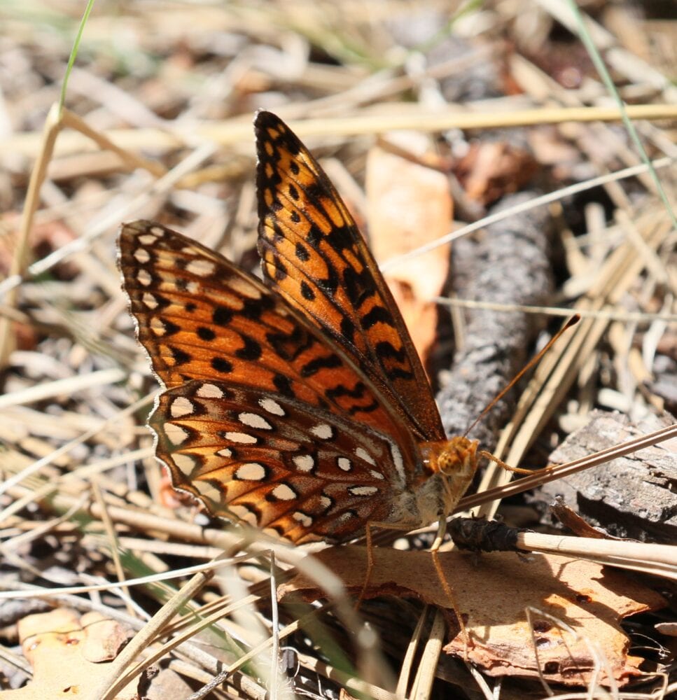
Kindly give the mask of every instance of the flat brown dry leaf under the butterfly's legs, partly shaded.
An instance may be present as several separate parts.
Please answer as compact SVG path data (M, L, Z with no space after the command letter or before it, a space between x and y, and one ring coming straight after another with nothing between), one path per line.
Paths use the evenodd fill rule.
M342 578L352 594L359 594L365 581L365 547L333 547L315 556ZM451 608L429 552L377 547L374 556L365 598L410 596ZM615 570L566 556L538 554L525 561L512 552L496 552L475 561L475 556L461 552L440 554L472 640L468 659L484 673L536 676L540 668L548 682L586 685L596 664L590 649L594 645L618 683L639 675L642 659L628 656L629 639L619 620L662 607L664 600L657 593ZM290 595L314 601L323 593L297 575L278 589L279 598ZM531 625L525 612L529 607L540 611L533 614ZM455 620L454 629L458 629ZM463 656L463 637L456 635L445 651ZM597 681L608 685L605 673Z

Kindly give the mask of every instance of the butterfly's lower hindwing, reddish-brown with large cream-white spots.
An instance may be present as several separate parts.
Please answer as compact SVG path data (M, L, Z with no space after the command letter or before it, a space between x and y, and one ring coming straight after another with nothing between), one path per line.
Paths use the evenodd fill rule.
M257 388L190 381L161 395L150 425L174 486L292 542L353 537L406 489L384 435Z

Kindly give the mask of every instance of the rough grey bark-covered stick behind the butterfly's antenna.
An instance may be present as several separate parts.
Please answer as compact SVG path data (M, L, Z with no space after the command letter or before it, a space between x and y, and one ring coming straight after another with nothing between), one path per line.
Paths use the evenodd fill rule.
M536 196L528 192L505 197L490 213ZM454 293L501 304L545 303L553 286L548 223L547 209L538 207L488 226L479 242L456 241L452 250ZM448 381L437 397L447 435L463 435L522 369L540 323L533 315L481 309L467 311L466 319L466 344L457 351ZM494 449L514 400L499 402L470 437L480 440L484 449Z

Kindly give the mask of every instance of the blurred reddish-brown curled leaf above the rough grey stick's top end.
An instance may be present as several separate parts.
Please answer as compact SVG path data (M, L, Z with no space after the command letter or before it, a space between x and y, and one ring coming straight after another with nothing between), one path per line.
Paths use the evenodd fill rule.
M536 172L536 160L502 141L475 142L454 168L466 195L484 206L522 189Z

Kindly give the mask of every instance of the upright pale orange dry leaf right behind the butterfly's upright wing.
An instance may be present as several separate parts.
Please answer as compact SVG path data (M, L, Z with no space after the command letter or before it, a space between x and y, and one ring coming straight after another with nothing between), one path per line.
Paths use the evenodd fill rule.
M420 138L421 134L397 134L398 147L414 153L425 151L428 141L424 137L421 148ZM408 253L452 229L452 197L447 177L412 158L378 146L369 152L366 173L369 233L377 260ZM428 300L442 292L448 267L449 247L442 246L407 260L384 275L424 360L435 341L437 326L436 306Z

